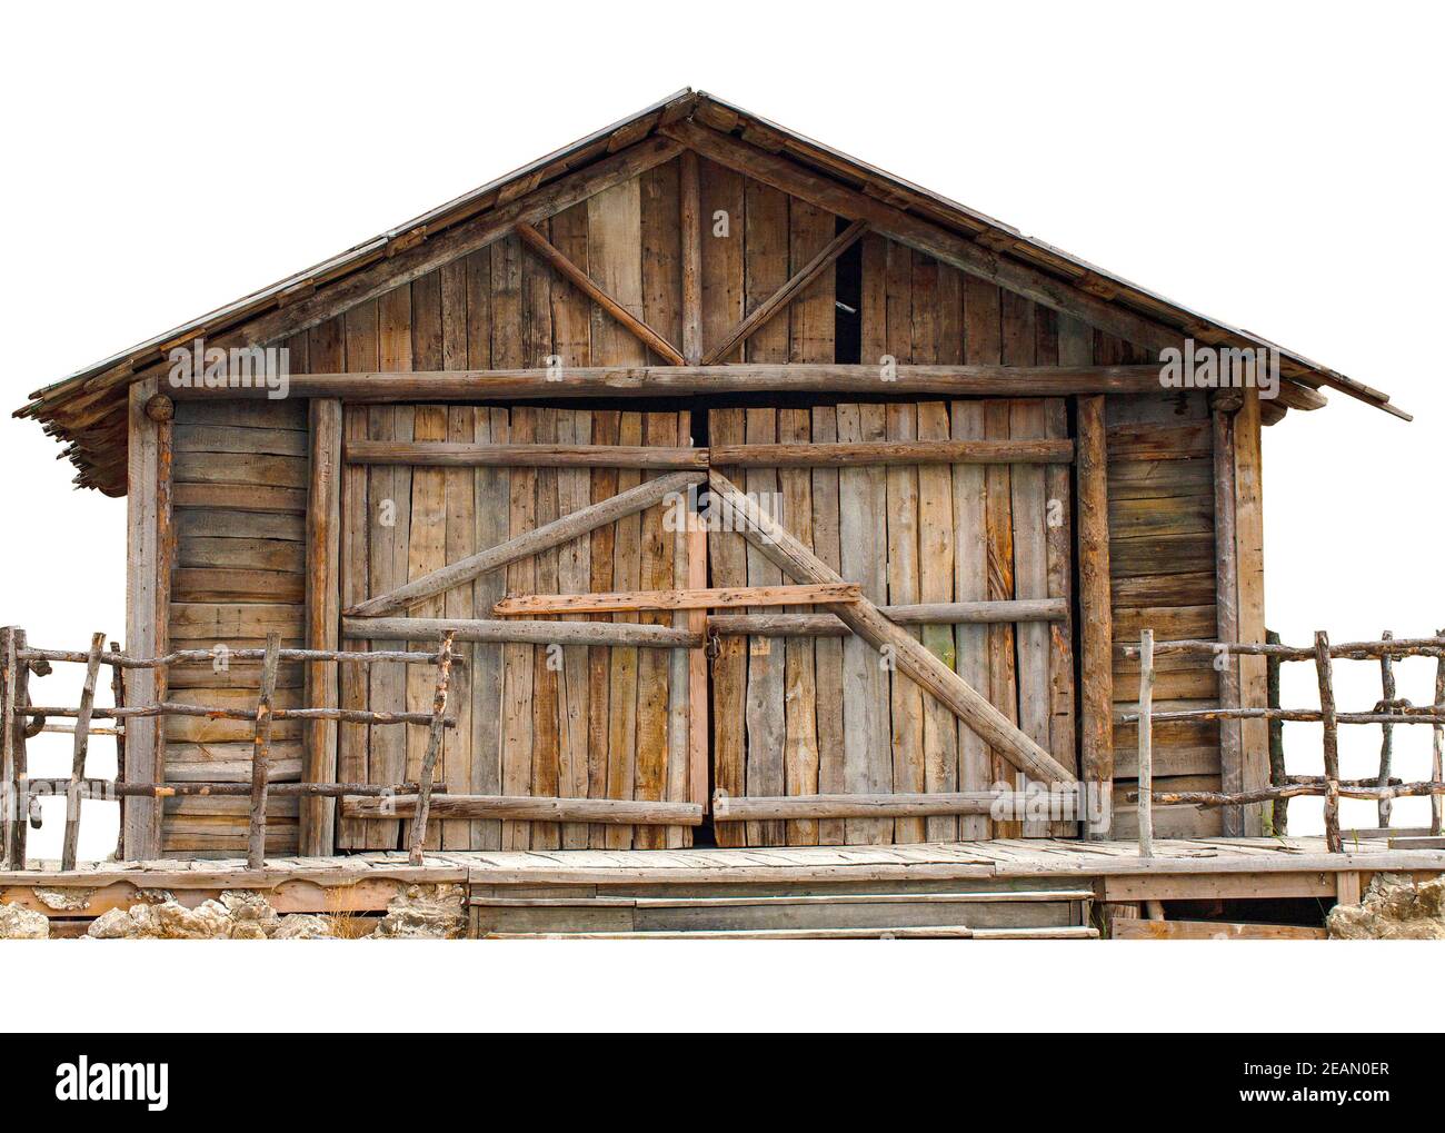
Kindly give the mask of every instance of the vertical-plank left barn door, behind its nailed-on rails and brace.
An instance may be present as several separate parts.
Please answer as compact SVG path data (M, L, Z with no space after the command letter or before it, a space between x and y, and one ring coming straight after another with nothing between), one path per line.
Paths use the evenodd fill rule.
M666 468L558 467L540 457L499 467L496 454L480 460L478 452L447 464L439 464L436 454L407 462L407 454L422 454L429 442L477 451L494 445L675 449L691 445L689 421L688 413L676 412L347 406L341 606L387 594L668 475ZM487 620L506 597L699 587L705 549L686 526L675 530L678 525L666 520L668 509L668 503L657 503L597 526L409 604L405 616ZM701 634L701 613L692 611L561 620L691 626ZM410 647L419 647L418 640L412 639ZM367 647L361 640L350 645ZM370 642L377 649L402 645ZM467 642L460 650L465 665L454 671L452 698L458 725L445 736L438 769L449 793L672 802L705 795L705 759L696 759L692 740L692 721L701 721L707 708L699 649ZM432 679L428 666L406 672L373 666L368 676L358 666L344 666L341 702L428 711ZM689 694L694 688L695 699ZM696 736L705 741L701 723ZM425 740L423 728L368 731L342 724L340 775L373 783L413 780ZM702 769L704 782L692 790L689 779L699 777L695 767ZM338 843L342 848L405 847L406 825L405 819L344 812ZM434 821L431 831L429 848L442 850L666 848L689 845L692 835L681 825L455 817Z

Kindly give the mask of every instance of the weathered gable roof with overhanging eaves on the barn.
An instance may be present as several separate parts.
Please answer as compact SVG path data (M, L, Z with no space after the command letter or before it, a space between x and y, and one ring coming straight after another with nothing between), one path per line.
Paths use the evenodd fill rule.
M306 329L335 314L306 322L305 308L315 296L335 292L350 298L354 292L355 298L350 298L347 305L363 302L368 298L368 292L363 290L367 269L373 269L373 275L377 269L384 272L387 260L394 260L400 267L407 256L418 259L415 251L431 241L439 246L439 237L460 233L460 225L486 223L488 217L506 220L509 208L514 210L519 202L561 178L601 168L608 159L617 159L649 139L660 143L665 140L662 132L685 129L707 132L695 134L698 139L715 136L740 143L756 149L763 158L783 159L806 176L821 175L838 182L847 191L861 192L883 207L896 210L905 221L920 221L942 230L957 247L965 247L958 238L968 241L972 270L978 270L980 263L985 264L985 270L1003 286L1010 286L1007 279L1022 273L1043 295L1049 295L1053 288L1082 295L1092 309L1116 315L1124 325L1149 325L1179 338L1192 337L1212 345L1276 350L1282 374L1296 392L1293 403L1298 408L1324 405L1324 399L1312 390L1328 386L1405 421L1410 419L1390 403L1387 393L1296 351L1279 347L1251 331L1211 319L957 201L829 149L715 95L692 90L678 91L371 240L45 386L33 392L14 416L35 418L46 432L66 442L62 455L78 467L77 484L97 487L107 494L123 494L126 389L147 367L158 366L172 347L198 335L214 340L223 334L260 344L275 341L276 334L267 331L277 325L285 325L286 334ZM392 286L400 282L394 280ZM280 318L279 312L292 305L301 314L293 319Z

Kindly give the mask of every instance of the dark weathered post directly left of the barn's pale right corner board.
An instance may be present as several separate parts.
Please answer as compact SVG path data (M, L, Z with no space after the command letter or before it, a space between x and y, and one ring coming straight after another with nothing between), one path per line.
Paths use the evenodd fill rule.
M1233 392L1231 392L1233 393ZM1234 403L1215 397L1214 406L1214 594L1215 594L1215 639L1221 646L1240 640L1240 571L1234 532ZM1215 666L1220 675L1220 704L1224 708L1240 707L1240 659L1224 653L1224 665ZM1220 782L1221 790L1234 793L1244 788L1243 740L1238 720L1220 721ZM1221 817L1227 838L1244 834L1244 811L1240 806L1225 806Z

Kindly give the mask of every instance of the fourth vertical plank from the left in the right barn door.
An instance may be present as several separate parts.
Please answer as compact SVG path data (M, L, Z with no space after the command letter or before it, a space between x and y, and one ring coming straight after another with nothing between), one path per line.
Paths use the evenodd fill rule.
M831 405L814 406L812 439L832 444L838 439L838 413ZM838 470L812 470L812 533L814 553L832 569L842 572L842 548L838 535ZM818 724L818 792L841 795L847 790L844 776L844 714L842 704L842 639L819 637L814 642L814 675ZM819 845L842 845L845 837L841 818L818 822Z

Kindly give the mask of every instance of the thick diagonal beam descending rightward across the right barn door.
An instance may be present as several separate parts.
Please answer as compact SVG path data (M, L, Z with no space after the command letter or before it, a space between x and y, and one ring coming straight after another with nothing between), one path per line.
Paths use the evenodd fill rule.
M733 510L740 533L749 543L799 582L841 582L837 571L738 491L725 475L714 471L709 487ZM1019 770L1043 783L1072 783L1074 775L1053 756L1020 731L958 673L931 653L912 633L893 624L867 598L832 607L854 633L890 660L941 704L971 727Z

